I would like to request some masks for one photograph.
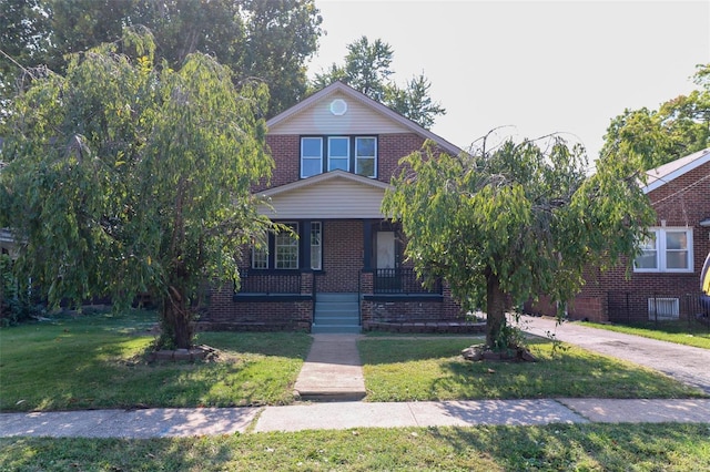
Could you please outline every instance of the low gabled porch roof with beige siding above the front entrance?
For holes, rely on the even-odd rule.
[[[385,218],[381,206],[389,187],[373,178],[333,171],[260,192],[268,205],[261,204],[258,211],[282,220]]]

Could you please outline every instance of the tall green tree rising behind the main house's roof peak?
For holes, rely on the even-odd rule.
[[[404,88],[398,86],[392,80],[393,58],[392,47],[383,40],[371,42],[367,37],[361,37],[347,45],[343,65],[333,63],[315,74],[312,89],[342,81],[420,126],[430,127],[446,110],[429,96],[432,83],[424,74],[413,76]]]

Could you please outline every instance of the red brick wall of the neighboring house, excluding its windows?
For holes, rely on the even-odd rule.
[[[589,298],[599,298],[601,308],[610,321],[641,321],[648,319],[648,299],[655,296],[682,298],[700,290],[700,270],[710,253],[710,228],[698,223],[710,216],[710,163],[667,183],[649,193],[658,214],[656,226],[690,227],[693,230],[693,271],[688,274],[631,273],[626,277],[626,267],[607,273],[588,274],[587,285],[577,297],[580,304],[571,304],[575,317],[584,317]],[[628,294],[628,295],[627,295]],[[605,297],[606,307],[604,307]],[[587,301],[585,301],[587,300]],[[681,317],[683,312],[681,300]]]

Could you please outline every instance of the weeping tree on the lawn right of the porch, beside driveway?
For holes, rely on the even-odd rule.
[[[425,284],[444,277],[464,309],[485,309],[486,345],[503,350],[516,347],[513,304],[568,300],[587,265],[636,254],[653,212],[638,163],[604,157],[587,176],[584,148],[559,136],[493,148],[488,136],[458,156],[426,143],[403,158],[383,209],[402,223]]]

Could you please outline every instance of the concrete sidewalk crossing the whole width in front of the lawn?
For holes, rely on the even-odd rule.
[[[710,399],[328,402],[264,408],[1,413],[0,437],[148,439],[314,429],[589,422],[710,423]]]

